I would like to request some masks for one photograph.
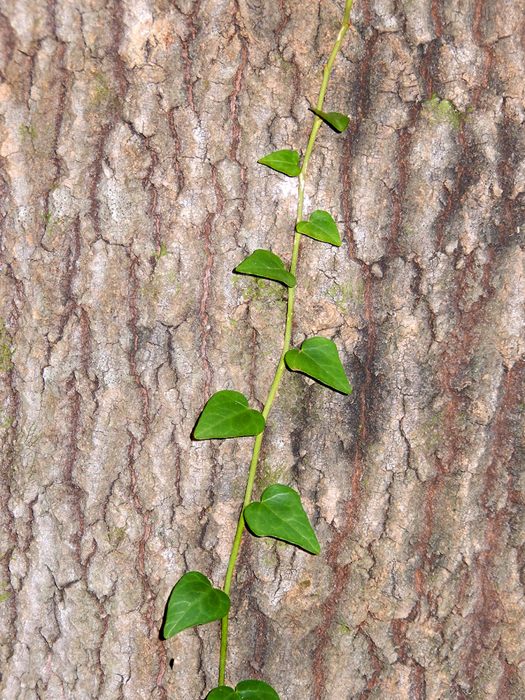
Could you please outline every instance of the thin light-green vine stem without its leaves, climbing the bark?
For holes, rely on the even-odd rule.
[[[323,69],[323,82],[321,83],[321,90],[319,92],[319,99],[317,101],[317,109],[323,109],[323,102],[325,99],[326,87],[328,86],[328,78],[330,78],[330,71],[332,70],[332,65],[335,61],[337,52],[341,45],[342,39],[349,28],[349,15],[352,6],[352,0],[347,0],[346,8],[344,10],[344,17],[341,28],[339,29],[339,34],[337,34],[337,39],[330,53],[330,58],[328,63]],[[298,197],[297,197],[297,223],[302,221],[302,204],[304,201],[304,181],[306,179],[306,172],[308,167],[308,162],[310,160],[311,151],[314,148],[314,142],[316,140],[317,132],[323,120],[316,116],[314,119],[314,125],[311,127],[310,137],[308,139],[308,145],[306,153],[304,153],[304,159],[302,161],[301,172],[299,174],[299,185],[298,185]],[[301,235],[297,230],[295,231],[295,237],[293,240],[293,251],[292,251],[292,262],[290,265],[290,272],[295,275],[295,270],[297,269],[297,258],[299,256],[299,244]],[[290,349],[290,339],[292,337],[292,323],[293,323],[293,302],[295,300],[295,288],[288,288],[288,304],[286,307],[286,326],[284,329],[284,343],[283,351],[281,352],[281,358],[279,359],[279,364],[275,371],[274,381],[272,381],[272,386],[269,389],[268,398],[265,403],[265,407],[262,409],[262,415],[265,420],[268,417],[269,409],[272,407],[272,403],[277,394],[279,384],[281,382],[281,377],[285,369],[284,356]],[[228,569],[226,570],[226,578],[224,583],[224,592],[230,595],[230,587],[232,585],[233,570],[235,568],[235,561],[237,561],[237,554],[239,553],[239,547],[241,546],[242,533],[244,531],[244,509],[251,501],[251,492],[253,491],[253,483],[255,482],[255,472],[257,471],[257,465],[259,461],[260,446],[262,444],[262,436],[264,435],[264,430],[260,435],[255,437],[255,444],[253,445],[253,454],[251,457],[250,471],[248,472],[248,481],[246,482],[246,491],[244,492],[244,501],[242,503],[241,514],[239,515],[239,522],[237,523],[237,531],[235,532],[235,539],[233,540],[232,553],[230,554],[230,561],[228,562]],[[219,661],[219,685],[224,685],[224,676],[226,668],[226,650],[228,647],[228,615],[225,615],[222,620],[221,626],[221,659]]]

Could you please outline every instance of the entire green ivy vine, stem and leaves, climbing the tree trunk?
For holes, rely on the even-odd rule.
[[[167,603],[165,621],[161,635],[168,639],[174,634],[197,624],[206,624],[221,619],[221,654],[218,672],[218,687],[212,689],[207,700],[279,700],[279,695],[261,680],[242,680],[235,689],[225,685],[226,650],[228,646],[228,619],[230,615],[230,587],[235,562],[244,531],[255,537],[271,537],[301,547],[310,554],[318,554],[321,547],[314,529],[302,507],[300,494],[284,484],[272,484],[262,492],[260,501],[252,502],[251,495],[266,419],[276,397],[277,389],[285,369],[301,372],[315,381],[339,391],[351,393],[351,387],[337,346],[324,337],[306,339],[299,348],[290,348],[295,299],[295,269],[302,236],[323,241],[332,246],[340,246],[341,238],[337,225],[328,213],[318,209],[311,212],[309,219],[303,218],[304,183],[308,162],[318,130],[323,124],[336,132],[342,132],[349,124],[349,118],[339,112],[323,111],[323,103],[332,65],[339,51],[342,39],[349,28],[349,15],[352,0],[346,2],[342,25],[323,69],[323,80],[315,108],[314,123],[302,163],[297,151],[283,149],[274,151],[258,160],[260,165],[297,178],[298,202],[297,221],[293,241],[292,262],[288,270],[284,262],[271,251],[255,250],[246,260],[237,265],[235,272],[264,279],[278,281],[288,289],[286,325],[284,328],[283,349],[276,367],[272,386],[262,412],[251,409],[248,400],[238,391],[218,391],[211,396],[195,425],[195,440],[223,440],[226,438],[253,436],[255,442],[250,470],[246,482],[244,501],[240,510],[237,531],[233,540],[230,561],[226,572],[223,590],[214,588],[211,582],[198,571],[189,571],[176,583]]]

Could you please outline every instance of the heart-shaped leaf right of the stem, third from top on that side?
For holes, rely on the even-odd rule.
[[[342,393],[351,393],[335,342],[328,338],[309,338],[301,349],[288,350],[284,360],[290,370],[303,372]]]

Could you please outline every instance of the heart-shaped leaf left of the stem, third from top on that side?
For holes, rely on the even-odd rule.
[[[248,408],[248,400],[239,391],[217,391],[204,406],[193,437],[244,437],[265,429],[262,413]]]

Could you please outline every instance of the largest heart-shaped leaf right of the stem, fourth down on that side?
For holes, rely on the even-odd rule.
[[[283,484],[273,484],[262,491],[260,503],[249,503],[244,521],[254,535],[275,537],[306,549],[321,552],[316,535],[301,504],[301,497]]]

